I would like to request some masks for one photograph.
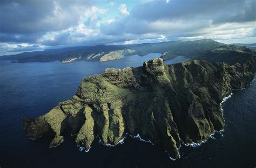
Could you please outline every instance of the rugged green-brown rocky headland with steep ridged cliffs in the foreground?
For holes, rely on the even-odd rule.
[[[138,68],[106,69],[84,78],[71,100],[43,116],[25,118],[24,130],[28,138],[54,134],[50,146],[56,146],[71,129],[86,150],[97,135],[104,144],[116,145],[126,133],[139,134],[178,158],[181,139],[198,143],[224,128],[220,102],[253,76],[253,60],[163,65],[163,59],[153,59]]]

